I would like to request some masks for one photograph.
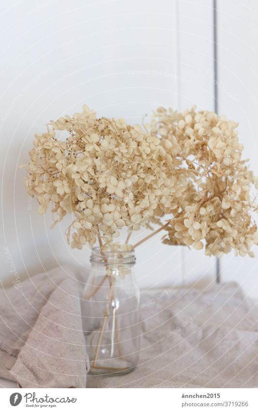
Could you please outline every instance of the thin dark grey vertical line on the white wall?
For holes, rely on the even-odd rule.
[[[214,112],[218,113],[218,48],[217,48],[217,0],[213,0],[213,82]],[[220,260],[216,258],[216,282],[220,282]]]

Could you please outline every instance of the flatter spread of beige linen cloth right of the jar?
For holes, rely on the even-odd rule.
[[[88,388],[258,388],[257,305],[239,285],[153,293],[142,295],[136,372],[87,376]],[[0,388],[17,386],[0,379]]]

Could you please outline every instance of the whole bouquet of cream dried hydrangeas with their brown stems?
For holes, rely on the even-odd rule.
[[[205,244],[207,255],[220,257],[234,249],[236,255],[253,257],[258,231],[251,191],[258,188],[258,178],[242,158],[237,126],[209,111],[159,108],[143,129],[122,119],[97,118],[84,105],[83,113],[51,121],[35,136],[28,192],[37,197],[40,214],[52,205],[52,227],[72,215],[66,234],[73,248],[92,247],[98,239],[103,256],[107,250],[123,254],[164,231],[165,244],[197,250]],[[122,243],[123,228],[128,235]],[[140,228],[152,232],[131,244],[132,231]],[[109,275],[107,267],[88,299],[106,277],[113,298]]]

